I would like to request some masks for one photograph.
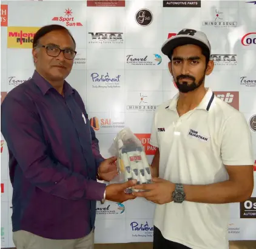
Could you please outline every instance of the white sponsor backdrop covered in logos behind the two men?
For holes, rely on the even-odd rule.
[[[32,76],[33,36],[48,24],[64,25],[75,37],[78,54],[67,81],[81,94],[90,118],[98,120],[94,129],[104,157],[110,157],[113,138],[127,126],[152,160],[153,112],[177,93],[161,45],[182,28],[192,28],[204,31],[212,44],[215,68],[206,86],[243,112],[256,160],[256,1],[2,2],[1,102]],[[256,239],[256,188],[248,201],[230,207],[229,238]],[[141,198],[99,204],[95,241],[152,241],[153,211],[154,205]],[[1,135],[2,247],[13,246],[11,216],[8,150]]]

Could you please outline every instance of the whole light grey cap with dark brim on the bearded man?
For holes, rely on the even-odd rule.
[[[186,44],[198,45],[209,51],[211,54],[211,44],[207,39],[206,34],[202,31],[192,30],[189,28],[183,28],[176,36],[172,36],[167,39],[162,45],[161,51],[163,54],[170,58],[174,48]]]

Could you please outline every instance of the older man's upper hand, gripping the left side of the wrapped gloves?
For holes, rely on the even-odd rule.
[[[99,164],[99,177],[104,181],[111,181],[116,175],[116,157],[107,158]]]

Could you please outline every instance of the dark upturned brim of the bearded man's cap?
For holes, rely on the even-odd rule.
[[[161,51],[163,54],[169,57],[169,55],[172,54],[172,51],[174,50],[174,48],[187,45],[187,44],[198,45],[201,48],[205,48],[210,53],[210,49],[209,47],[207,47],[206,44],[192,37],[172,37],[169,40],[166,40],[166,43],[163,44]]]

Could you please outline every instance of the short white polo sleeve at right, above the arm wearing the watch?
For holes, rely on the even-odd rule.
[[[221,158],[225,165],[254,164],[251,131],[241,112],[235,112],[224,123],[221,135]]]

